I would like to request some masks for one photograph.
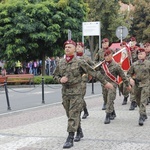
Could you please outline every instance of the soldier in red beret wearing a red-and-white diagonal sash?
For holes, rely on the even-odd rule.
[[[103,93],[107,98],[106,103],[106,118],[104,123],[109,124],[110,120],[113,120],[116,117],[114,109],[114,100],[116,98],[116,89],[117,89],[117,76],[120,76],[123,82],[126,84],[128,90],[131,89],[129,81],[126,78],[122,68],[118,63],[113,60],[112,51],[106,50],[104,53],[105,62],[99,68],[101,73],[105,75],[105,79],[113,84],[114,89],[106,89]]]

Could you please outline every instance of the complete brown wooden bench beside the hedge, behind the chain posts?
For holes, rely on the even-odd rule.
[[[6,75],[7,83],[31,83],[34,84],[33,74],[10,74]]]

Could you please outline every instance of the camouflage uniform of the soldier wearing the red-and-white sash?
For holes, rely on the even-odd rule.
[[[107,62],[105,62],[105,63],[107,64]],[[109,72],[114,77],[117,78],[117,76],[119,75],[122,78],[125,85],[129,86],[129,81],[126,78],[124,71],[121,69],[121,67],[118,63],[116,63],[115,61],[112,60],[112,62],[107,64],[107,67],[109,69]],[[105,71],[102,68],[100,68],[100,71],[102,74],[105,74]],[[103,91],[104,97],[107,99],[106,114],[109,114],[109,117],[112,117],[112,115],[114,115],[114,100],[116,99],[117,84],[114,81],[112,81],[106,74],[105,74],[105,79],[108,82],[112,83],[114,86],[114,89],[105,89],[105,91]]]

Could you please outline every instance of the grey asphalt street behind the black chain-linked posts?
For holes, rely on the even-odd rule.
[[[86,96],[93,96],[101,94],[101,85],[99,82],[94,84],[87,84]],[[54,103],[61,103],[61,85],[45,85],[44,86],[44,102],[42,103],[42,86],[8,86],[8,96],[11,111],[18,111],[22,109],[29,109],[33,107],[43,107],[43,105],[50,105]],[[0,114],[8,113],[7,102],[4,88],[0,87]]]

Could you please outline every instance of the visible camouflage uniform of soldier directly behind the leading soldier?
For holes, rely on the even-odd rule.
[[[83,54],[82,56],[77,56],[77,58],[79,58],[81,60],[85,60],[90,66],[94,66],[94,62],[85,54]],[[84,96],[86,94],[86,83],[87,83],[87,81],[88,81],[88,74],[83,74],[82,75],[82,83],[81,83],[82,84],[82,92],[83,92],[83,94],[82,94],[83,100],[84,100]],[[84,100],[83,110],[84,110],[84,115],[82,118],[85,119],[86,115],[89,115],[89,113],[87,111],[87,104],[86,104],[85,100]]]

